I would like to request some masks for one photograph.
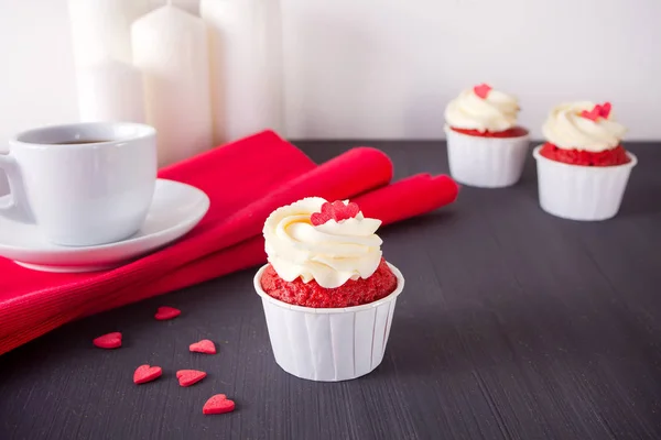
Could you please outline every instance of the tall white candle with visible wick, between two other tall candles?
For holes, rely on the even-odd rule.
[[[213,146],[208,46],[202,19],[164,6],[131,29],[133,64],[144,77],[147,122],[158,131],[159,164]]]

